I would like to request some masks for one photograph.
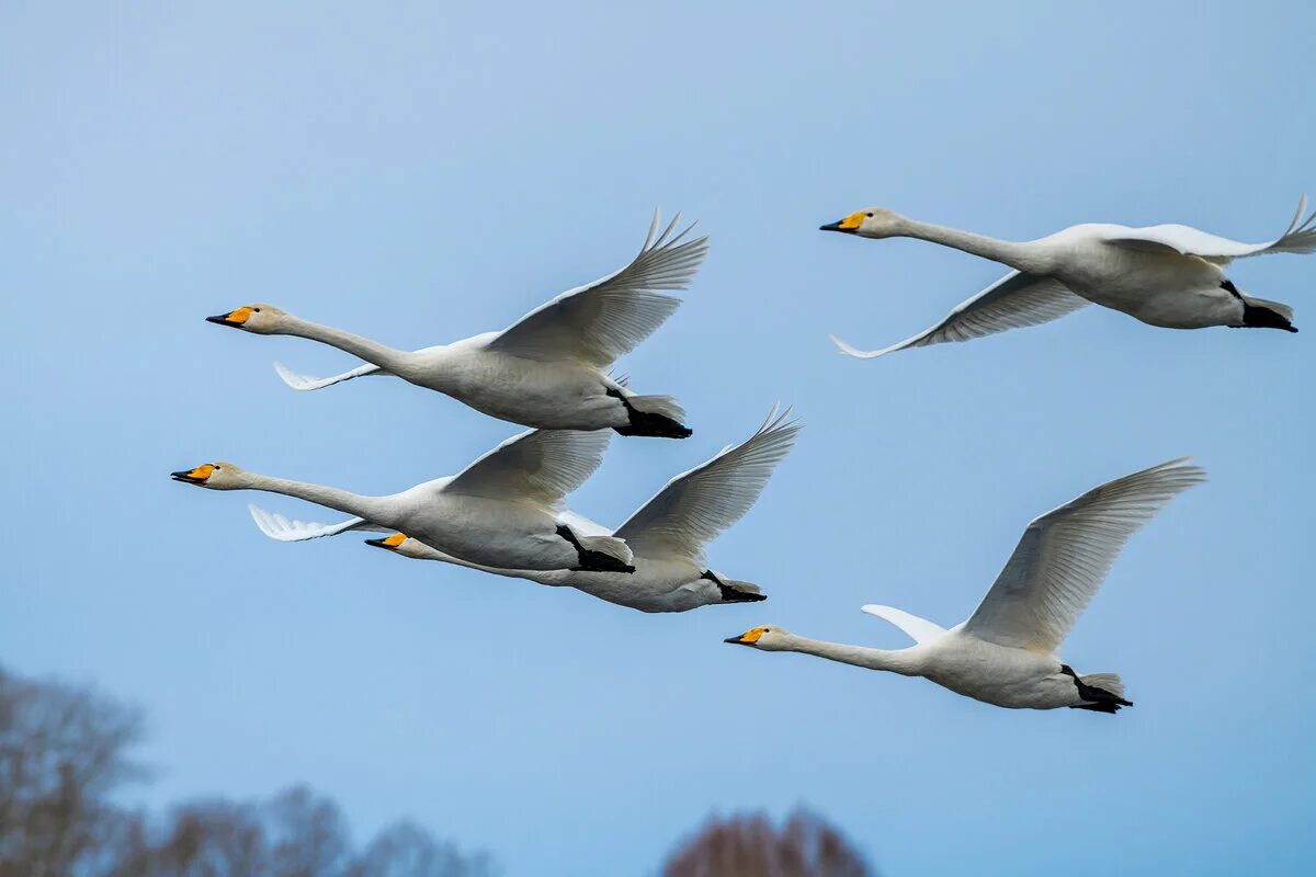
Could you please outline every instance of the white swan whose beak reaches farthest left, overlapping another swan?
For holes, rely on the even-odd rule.
[[[470,563],[524,569],[630,573],[622,536],[579,533],[562,518],[562,497],[599,468],[608,433],[529,430],[458,475],[393,493],[361,496],[338,488],[207,463],[172,472],[175,481],[212,490],[267,490],[415,533]]]

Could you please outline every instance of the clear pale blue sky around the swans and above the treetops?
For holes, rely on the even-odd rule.
[[[309,781],[511,874],[647,873],[708,813],[807,802],[890,874],[1299,873],[1316,855],[1316,259],[1237,264],[1304,331],[1088,309],[873,363],[1003,273],[816,231],[870,204],[1008,238],[1084,221],[1257,241],[1316,192],[1302,4],[0,8],[0,660],[142,703],[145,803]],[[644,615],[355,538],[284,546],[212,459],[390,492],[516,427],[203,322],[251,301],[399,347],[620,267],[654,205],[712,235],[622,366],[695,435],[617,439],[620,522],[745,437],[807,427],[715,567],[766,604]],[[1013,713],[733,650],[757,623],[895,647],[965,618],[1037,513],[1195,454],[1065,647],[1137,707]],[[268,505],[303,517],[293,501]]]

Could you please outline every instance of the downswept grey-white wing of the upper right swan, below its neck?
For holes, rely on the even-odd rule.
[[[841,352],[857,359],[874,359],[907,347],[928,347],[954,341],[995,335],[1007,329],[1037,326],[1059,320],[1088,304],[1054,277],[1013,271],[976,296],[959,304],[940,323],[882,350],[858,350],[832,335]]]

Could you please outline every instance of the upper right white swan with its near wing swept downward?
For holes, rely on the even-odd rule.
[[[1001,262],[1013,271],[957,305],[936,326],[900,343],[862,351],[836,335],[832,341],[849,356],[873,359],[907,347],[1036,326],[1088,302],[1167,329],[1232,326],[1295,333],[1288,305],[1241,292],[1225,277],[1224,267],[1265,252],[1316,250],[1316,213],[1303,220],[1305,210],[1303,196],[1288,229],[1267,243],[1238,243],[1186,225],[1130,229],[1098,224],[1013,242],[917,222],[882,208],[858,210],[821,230],[861,238],[920,238]]]

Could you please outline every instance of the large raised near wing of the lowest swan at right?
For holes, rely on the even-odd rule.
[[[965,632],[1054,652],[1137,530],[1207,473],[1171,460],[1088,490],[1028,525]]]

